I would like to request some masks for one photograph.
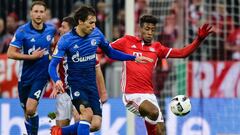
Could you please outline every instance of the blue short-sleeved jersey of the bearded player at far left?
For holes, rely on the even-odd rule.
[[[49,52],[55,32],[56,30],[53,26],[46,24],[44,24],[43,30],[36,30],[31,22],[17,29],[10,43],[11,46],[17,47],[21,50],[21,53],[29,55],[38,48],[45,48],[46,50],[44,56],[40,59],[21,60],[19,81],[29,84],[34,79],[49,79]]]

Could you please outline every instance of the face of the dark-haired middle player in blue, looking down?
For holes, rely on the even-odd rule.
[[[90,34],[96,27],[96,16],[89,15],[86,21],[79,21],[79,27],[85,35]]]

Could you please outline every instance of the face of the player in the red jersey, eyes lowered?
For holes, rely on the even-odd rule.
[[[140,27],[141,37],[144,42],[151,43],[154,33],[156,31],[156,25],[152,23],[144,23],[142,27]]]

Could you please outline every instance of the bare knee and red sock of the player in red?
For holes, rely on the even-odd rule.
[[[156,121],[159,116],[158,108],[148,100],[145,100],[141,103],[139,106],[139,112],[141,116],[148,117],[152,121]],[[145,122],[145,124],[148,130],[148,134],[165,135],[165,125],[163,122],[158,122],[156,125],[153,125],[149,122]],[[153,132],[155,133],[153,134]]]

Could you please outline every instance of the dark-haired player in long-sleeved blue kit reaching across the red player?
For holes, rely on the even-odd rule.
[[[116,60],[132,60],[138,63],[147,63],[151,59],[140,56],[126,55],[116,51],[109,46],[102,32],[96,28],[96,12],[92,7],[82,6],[74,14],[77,22],[76,28],[63,35],[54,51],[49,65],[49,74],[55,82],[55,88],[64,92],[63,83],[57,75],[57,65],[61,59],[67,56],[68,69],[66,71],[66,85],[72,103],[80,114],[80,105],[90,107],[93,111],[91,120],[91,131],[97,131],[101,127],[102,109],[96,86],[96,50],[100,47],[110,58]],[[60,130],[62,134],[76,131],[80,135],[79,123],[69,128],[52,128],[52,131]]]

